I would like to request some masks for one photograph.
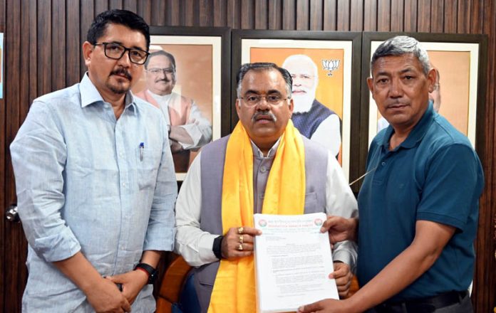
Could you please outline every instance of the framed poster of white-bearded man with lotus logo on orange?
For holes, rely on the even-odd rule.
[[[353,144],[358,147],[358,137],[351,134],[358,134],[359,127],[361,33],[240,30],[232,31],[232,44],[233,85],[243,63],[272,62],[286,68],[293,78],[295,127],[329,149],[346,179],[353,179],[357,166],[351,151]],[[232,124],[236,121],[233,117]]]

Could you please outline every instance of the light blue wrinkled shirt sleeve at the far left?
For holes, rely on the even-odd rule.
[[[10,149],[19,217],[29,245],[47,262],[70,258],[81,245],[61,217],[67,149],[50,105],[33,102]]]

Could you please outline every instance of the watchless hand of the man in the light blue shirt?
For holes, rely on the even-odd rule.
[[[112,280],[101,278],[85,294],[95,312],[131,312],[131,305]]]

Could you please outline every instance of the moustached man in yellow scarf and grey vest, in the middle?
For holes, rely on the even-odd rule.
[[[326,212],[356,216],[356,200],[336,158],[293,126],[291,75],[273,63],[237,75],[239,123],[202,149],[176,205],[176,252],[195,266],[202,312],[255,312],[254,213]],[[334,245],[336,279],[346,296],[356,245]]]

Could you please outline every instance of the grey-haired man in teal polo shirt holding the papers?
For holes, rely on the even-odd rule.
[[[358,195],[358,281],[352,297],[300,312],[472,312],[482,166],[467,137],[429,103],[436,72],[418,41],[397,36],[371,60],[368,87],[390,126],[371,144]],[[331,217],[332,240],[358,219]]]

